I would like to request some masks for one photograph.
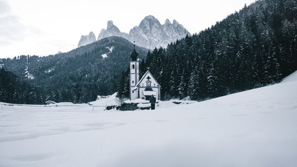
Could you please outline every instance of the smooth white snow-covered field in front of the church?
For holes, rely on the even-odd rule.
[[[0,166],[297,166],[297,77],[155,111],[0,104]]]

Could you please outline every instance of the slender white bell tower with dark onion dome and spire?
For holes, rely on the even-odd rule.
[[[137,61],[138,53],[134,50],[130,54],[132,61],[130,62],[130,100],[136,100],[137,92],[134,90],[139,81],[139,62]]]

